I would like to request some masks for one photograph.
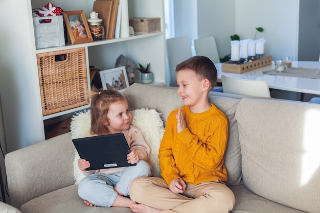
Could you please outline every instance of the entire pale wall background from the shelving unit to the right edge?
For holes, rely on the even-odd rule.
[[[187,7],[188,2],[196,2],[196,6]],[[253,39],[255,28],[262,27],[264,32],[258,32],[257,38],[266,39],[265,55],[273,59],[291,56],[295,60],[318,60],[318,0],[174,0],[174,3],[178,15],[175,25],[179,26],[175,36],[189,35],[192,40],[213,35],[220,58],[230,54],[231,35]],[[190,18],[196,20],[196,25],[189,24]]]

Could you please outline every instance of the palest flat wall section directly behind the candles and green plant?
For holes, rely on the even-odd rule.
[[[298,59],[299,0],[241,0],[236,5],[236,34],[241,39],[254,38],[255,28],[264,32],[265,55],[278,60],[284,56]],[[287,11],[287,12],[286,12]]]

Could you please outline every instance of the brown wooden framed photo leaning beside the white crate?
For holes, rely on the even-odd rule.
[[[83,10],[64,11],[62,15],[72,44],[94,41]]]

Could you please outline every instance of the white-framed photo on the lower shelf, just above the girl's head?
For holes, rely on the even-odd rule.
[[[125,66],[102,70],[99,73],[103,89],[114,89],[124,92],[129,87]]]

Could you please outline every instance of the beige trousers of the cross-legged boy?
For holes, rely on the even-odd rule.
[[[170,213],[230,212],[235,205],[233,192],[220,182],[187,183],[183,194],[174,194],[162,178],[139,177],[131,182],[129,194],[134,202]]]

